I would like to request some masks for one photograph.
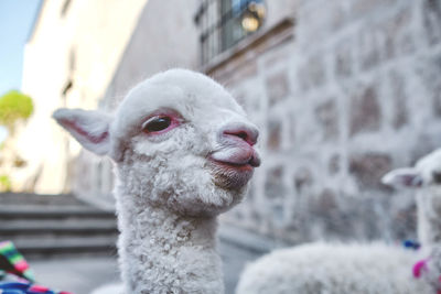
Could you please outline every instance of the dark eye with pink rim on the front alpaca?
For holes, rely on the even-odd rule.
[[[183,119],[173,110],[163,110],[152,113],[141,126],[141,130],[148,135],[158,135],[179,127]]]

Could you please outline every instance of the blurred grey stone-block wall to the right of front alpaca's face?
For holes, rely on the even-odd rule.
[[[301,0],[292,17],[207,69],[261,128],[224,221],[290,243],[413,238],[412,193],[379,179],[441,145],[441,2]]]

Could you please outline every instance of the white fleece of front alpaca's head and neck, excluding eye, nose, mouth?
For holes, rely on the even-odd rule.
[[[158,111],[180,124],[147,135],[142,126]],[[225,128],[257,134],[233,97],[202,74],[171,69],[132,89],[114,116],[64,109],[54,118],[116,163],[125,293],[223,293],[216,217],[243,199],[252,173],[236,175],[207,157],[238,154],[219,140]]]

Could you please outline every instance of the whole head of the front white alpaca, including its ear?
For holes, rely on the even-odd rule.
[[[54,118],[89,151],[110,156],[125,197],[190,216],[237,204],[260,160],[257,128],[211,78],[185,69],[135,87],[115,115],[60,109]]]

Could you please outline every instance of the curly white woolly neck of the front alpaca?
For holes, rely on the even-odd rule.
[[[215,217],[179,216],[132,195],[117,198],[127,293],[224,292]]]

